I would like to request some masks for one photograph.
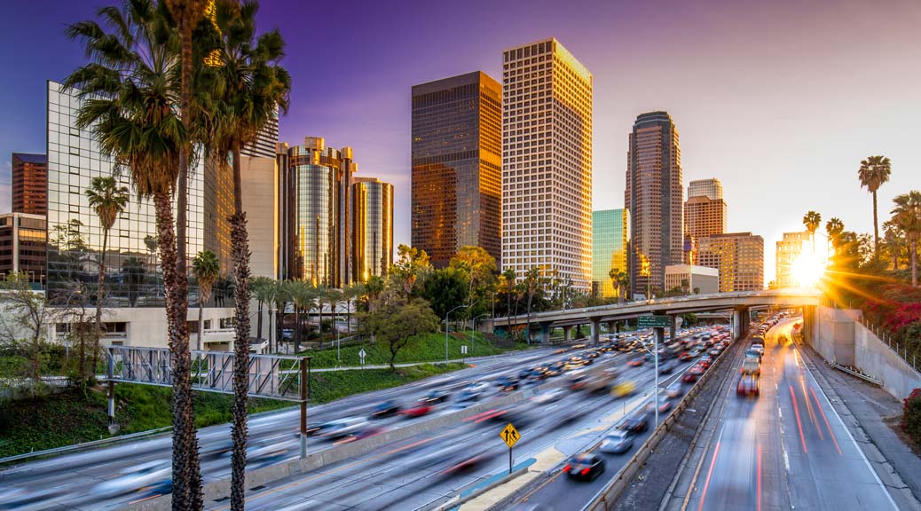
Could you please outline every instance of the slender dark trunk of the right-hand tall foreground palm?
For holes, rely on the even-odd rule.
[[[233,147],[234,214],[230,217],[234,276],[233,452],[230,459],[230,509],[246,507],[246,411],[250,386],[250,241],[243,211],[239,143]]]

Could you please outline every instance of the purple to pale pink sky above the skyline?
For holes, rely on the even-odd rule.
[[[10,153],[44,152],[44,81],[82,62],[67,23],[106,2],[29,0],[0,30],[0,212]],[[627,133],[637,113],[668,110],[687,181],[716,177],[729,229],[775,241],[809,209],[868,232],[863,157],[892,158],[880,216],[921,188],[921,3],[265,1],[294,79],[281,138],[351,145],[359,173],[397,190],[397,243],[410,239],[410,87],[483,70],[501,80],[504,48],[553,36],[595,77],[594,206],[621,207]]]

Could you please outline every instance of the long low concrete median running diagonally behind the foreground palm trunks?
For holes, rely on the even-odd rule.
[[[366,453],[370,449],[385,446],[392,442],[399,442],[407,438],[418,436],[429,431],[442,429],[449,426],[458,425],[463,420],[471,418],[474,415],[487,412],[496,407],[503,407],[524,401],[534,394],[536,390],[560,387],[565,385],[565,378],[558,378],[540,386],[522,389],[511,392],[506,396],[493,399],[480,404],[475,404],[457,412],[445,413],[425,421],[406,424],[402,427],[391,429],[380,433],[379,435],[369,436],[355,442],[336,446],[319,452],[309,454],[306,459],[295,459],[282,463],[276,463],[268,467],[256,470],[247,470],[246,487],[262,486],[271,482],[283,480],[298,474],[309,472],[310,470],[319,470],[326,465],[343,461],[344,459],[354,458]],[[292,436],[294,432],[292,432]],[[212,479],[208,481],[205,478],[203,485],[204,501],[213,502],[224,499],[230,495],[230,478]],[[145,501],[136,502],[127,505],[126,508],[133,511],[166,511],[171,509],[171,495],[159,495]]]

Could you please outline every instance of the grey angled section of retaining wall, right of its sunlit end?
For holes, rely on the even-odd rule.
[[[860,323],[854,323],[856,366],[882,381],[882,388],[899,400],[921,388],[921,373],[895,354],[886,343]]]

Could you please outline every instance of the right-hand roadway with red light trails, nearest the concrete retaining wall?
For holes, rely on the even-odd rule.
[[[797,348],[786,341],[794,322],[782,321],[765,336],[760,396],[736,397],[733,382],[722,397],[722,412],[711,417],[721,426],[690,508],[896,508]]]

